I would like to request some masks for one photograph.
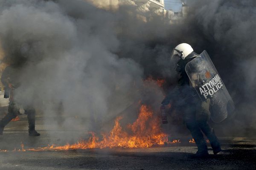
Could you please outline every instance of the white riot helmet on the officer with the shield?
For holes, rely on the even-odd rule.
[[[189,44],[179,44],[175,48],[173,48],[171,59],[173,59],[175,56],[178,56],[181,59],[185,59],[193,51],[193,48]]]

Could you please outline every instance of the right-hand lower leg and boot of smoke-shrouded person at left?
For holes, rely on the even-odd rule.
[[[25,112],[29,120],[29,136],[40,136],[40,133],[35,130],[35,109],[29,108]]]

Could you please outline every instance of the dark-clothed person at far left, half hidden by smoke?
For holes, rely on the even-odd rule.
[[[4,127],[11,122],[16,116],[20,114],[20,108],[17,102],[15,102],[15,88],[20,84],[18,79],[19,66],[11,65],[6,67],[3,71],[1,81],[5,86],[5,95],[4,98],[9,98],[9,108],[7,115],[0,121],[0,135],[3,135]],[[30,105],[23,105],[25,114],[28,117],[29,121],[29,136],[40,136],[35,130],[35,108]]]

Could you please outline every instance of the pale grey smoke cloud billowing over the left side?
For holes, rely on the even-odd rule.
[[[64,117],[76,116],[90,129],[143,100],[143,68],[115,54],[120,42],[113,14],[79,0],[0,4],[5,60],[20,65],[17,102],[41,109],[45,119],[58,116],[62,108]],[[163,98],[159,92],[158,100]],[[78,126],[58,119],[68,129]]]

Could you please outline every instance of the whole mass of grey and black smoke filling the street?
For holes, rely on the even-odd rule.
[[[17,100],[44,110],[45,117],[56,115],[62,103],[64,114],[79,116],[81,125],[92,119],[99,121],[96,125],[108,122],[139,100],[157,109],[162,91],[154,84],[145,90],[143,79],[163,78],[164,90],[172,88],[176,75],[169,55],[186,42],[197,53],[207,50],[233,97],[236,116],[223,126],[253,127],[256,2],[187,3],[188,17],[169,25],[148,11],[148,22],[137,19],[134,5],[112,13],[80,0],[1,0],[6,60],[25,60]]]

